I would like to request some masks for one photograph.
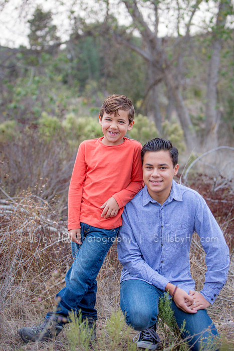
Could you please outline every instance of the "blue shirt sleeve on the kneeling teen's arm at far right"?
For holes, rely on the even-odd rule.
[[[229,249],[221,229],[203,198],[200,198],[197,204],[194,230],[199,235],[206,253],[207,271],[200,293],[206,301],[212,304],[227,279]]]

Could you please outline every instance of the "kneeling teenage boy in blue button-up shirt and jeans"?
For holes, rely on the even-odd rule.
[[[178,150],[155,138],[142,148],[142,189],[125,207],[118,236],[121,274],[120,306],[127,324],[139,330],[138,347],[157,348],[158,301],[172,298],[176,323],[192,351],[218,333],[206,308],[227,278],[229,250],[204,199],[177,184]],[[207,272],[200,292],[190,274],[189,250],[196,232],[206,253]],[[216,348],[212,348],[216,349]]]

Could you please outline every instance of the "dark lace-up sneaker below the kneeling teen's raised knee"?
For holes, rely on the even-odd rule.
[[[138,340],[134,341],[133,339],[134,342],[137,342],[137,347],[148,348],[149,350],[156,350],[156,348],[158,347],[158,342],[160,341],[160,338],[156,333],[156,329],[157,323],[155,323],[150,328],[140,331],[140,333],[137,334],[139,335]]]

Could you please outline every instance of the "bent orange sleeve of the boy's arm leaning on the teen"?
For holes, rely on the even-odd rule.
[[[119,208],[124,207],[144,186],[141,165],[141,149],[142,146],[139,144],[134,152],[130,184],[125,189],[112,195],[112,198],[116,200]]]

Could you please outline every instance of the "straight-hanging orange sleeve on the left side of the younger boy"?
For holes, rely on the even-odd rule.
[[[81,228],[80,209],[87,168],[84,152],[85,144],[81,143],[77,152],[68,192],[68,230]]]

